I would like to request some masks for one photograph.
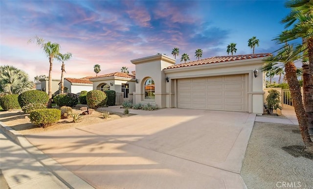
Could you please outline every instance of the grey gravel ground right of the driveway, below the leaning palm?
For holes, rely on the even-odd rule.
[[[241,169],[248,189],[313,189],[313,159],[282,149],[304,145],[295,130],[298,126],[255,122]]]

